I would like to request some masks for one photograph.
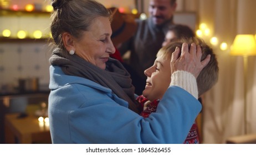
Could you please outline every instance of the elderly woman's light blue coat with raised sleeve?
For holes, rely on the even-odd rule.
[[[143,118],[111,90],[50,66],[49,121],[53,143],[183,143],[201,104],[177,86]]]

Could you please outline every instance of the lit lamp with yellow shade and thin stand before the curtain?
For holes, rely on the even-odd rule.
[[[244,133],[247,134],[247,68],[248,56],[256,55],[256,42],[253,34],[238,34],[231,46],[231,55],[243,56],[244,60]]]

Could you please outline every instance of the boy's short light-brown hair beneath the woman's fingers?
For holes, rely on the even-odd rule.
[[[211,89],[212,86],[218,81],[218,61],[212,48],[210,48],[203,40],[199,38],[181,39],[177,42],[169,43],[161,48],[158,51],[157,56],[171,60],[172,53],[175,51],[176,46],[181,49],[183,43],[187,43],[189,49],[192,43],[200,45],[202,48],[201,60],[205,59],[208,54],[211,55],[211,60],[197,77],[198,96],[201,96],[204,92]]]

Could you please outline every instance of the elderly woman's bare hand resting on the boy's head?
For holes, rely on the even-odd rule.
[[[199,45],[192,43],[190,50],[188,50],[188,44],[183,43],[181,51],[180,48],[176,47],[175,51],[172,53],[171,73],[174,73],[177,70],[183,70],[188,71],[197,78],[199,73],[211,59],[211,55],[207,55],[206,59],[201,61],[201,56],[202,49]]]

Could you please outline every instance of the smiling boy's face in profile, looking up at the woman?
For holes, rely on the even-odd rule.
[[[142,92],[150,101],[161,99],[171,82],[170,59],[157,57],[155,63],[144,71],[147,76],[146,87]]]

